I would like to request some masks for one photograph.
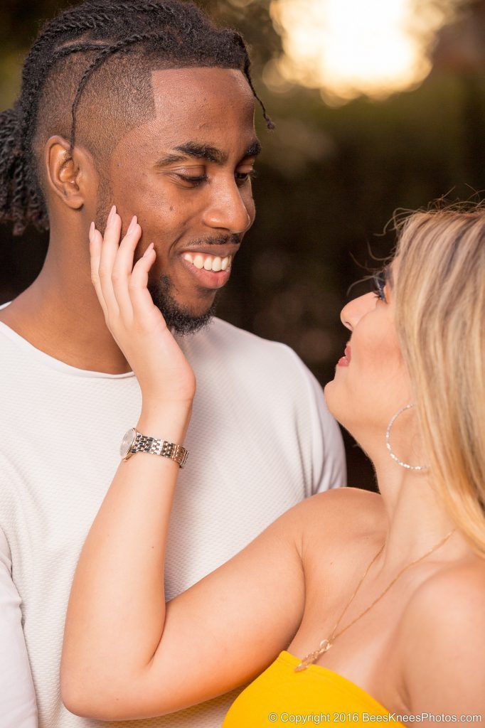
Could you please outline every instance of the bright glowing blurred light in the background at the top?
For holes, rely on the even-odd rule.
[[[275,91],[298,83],[328,103],[382,98],[429,74],[436,33],[460,0],[272,0],[284,54],[267,65]]]

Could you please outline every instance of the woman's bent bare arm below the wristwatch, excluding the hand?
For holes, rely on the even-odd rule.
[[[298,506],[165,605],[175,466],[149,461],[137,454],[115,475],[71,592],[63,701],[100,720],[171,713],[244,684],[288,646],[304,609]]]

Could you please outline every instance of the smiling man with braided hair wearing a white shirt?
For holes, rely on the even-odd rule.
[[[255,215],[248,68],[240,36],[191,4],[90,0],[44,26],[2,114],[1,218],[49,226],[50,245],[0,311],[1,728],[33,726],[33,689],[41,728],[95,725],[60,703],[58,668],[76,559],[141,406],[88,272],[90,222],[103,229],[113,203],[123,232],[138,215],[137,256],[154,242],[149,288],[197,375],[169,598],[344,484],[339,431],[298,357],[211,320]],[[233,699],[137,725],[216,728]]]

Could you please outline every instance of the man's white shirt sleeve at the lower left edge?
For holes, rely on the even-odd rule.
[[[0,728],[36,726],[36,697],[23,636],[20,596],[12,581],[7,539],[0,529]]]

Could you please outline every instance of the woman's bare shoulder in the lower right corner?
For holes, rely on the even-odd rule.
[[[409,601],[401,633],[403,676],[414,712],[423,705],[431,712],[485,710],[483,558],[471,556],[426,579]]]

